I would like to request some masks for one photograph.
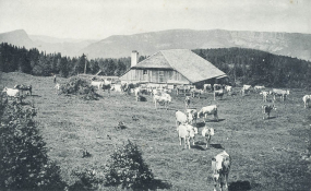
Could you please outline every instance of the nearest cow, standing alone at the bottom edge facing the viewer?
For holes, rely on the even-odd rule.
[[[231,167],[231,157],[224,151],[212,158],[212,171],[214,180],[214,191],[216,191],[217,184],[220,191],[223,187],[228,189],[228,176]]]

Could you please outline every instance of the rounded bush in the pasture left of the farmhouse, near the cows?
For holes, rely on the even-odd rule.
[[[89,82],[76,76],[71,77],[67,84],[62,85],[60,92],[65,95],[77,95],[80,98],[86,100],[97,100],[99,97],[95,93],[94,87],[89,85]]]

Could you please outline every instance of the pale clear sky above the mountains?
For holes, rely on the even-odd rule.
[[[179,28],[311,34],[311,0],[0,0],[0,33],[104,39]]]

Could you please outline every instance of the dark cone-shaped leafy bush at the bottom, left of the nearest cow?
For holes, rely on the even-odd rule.
[[[111,154],[109,163],[105,169],[105,186],[143,190],[154,180],[152,170],[142,158],[142,153],[130,141]]]

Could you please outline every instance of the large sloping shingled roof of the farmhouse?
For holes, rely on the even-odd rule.
[[[207,60],[188,49],[160,50],[148,57],[135,68],[172,69],[195,83],[226,74]]]

